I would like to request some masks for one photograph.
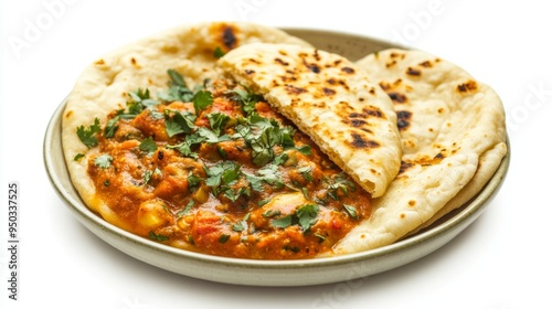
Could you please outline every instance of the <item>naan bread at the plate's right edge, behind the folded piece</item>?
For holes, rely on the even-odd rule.
[[[371,249],[428,226],[469,201],[507,152],[502,103],[457,65],[421,51],[386,50],[357,62],[393,99],[402,169],[372,216],[333,254]]]

